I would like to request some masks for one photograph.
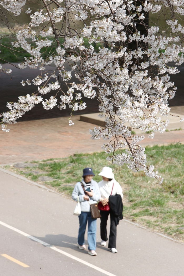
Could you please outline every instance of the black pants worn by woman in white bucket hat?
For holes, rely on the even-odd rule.
[[[107,220],[108,216],[110,214],[110,219],[111,219],[111,226],[110,226],[110,235],[109,235],[109,245],[108,248],[116,248],[116,222],[115,222],[115,217],[113,214],[110,213],[110,211],[100,211],[100,235],[101,239],[103,241],[107,241]]]

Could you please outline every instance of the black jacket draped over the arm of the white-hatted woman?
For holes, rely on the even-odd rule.
[[[116,225],[123,219],[123,203],[121,195],[110,195],[109,197],[110,211],[116,218]]]

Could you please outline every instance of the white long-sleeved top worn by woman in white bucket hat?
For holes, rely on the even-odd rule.
[[[113,186],[113,183],[114,183],[114,186]],[[111,195],[112,188],[113,188],[112,195],[121,195],[121,198],[123,198],[122,188],[115,179],[111,181],[102,180],[98,183],[98,185],[101,193],[101,198],[100,198],[101,201],[104,198],[108,198]]]

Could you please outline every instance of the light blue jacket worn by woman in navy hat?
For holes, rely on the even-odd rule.
[[[84,189],[87,189],[86,183],[84,182],[84,179],[82,179],[82,183],[84,184]],[[94,181],[93,179],[91,180],[91,185],[90,185],[90,190],[93,192],[93,196],[89,197],[89,201],[84,200],[84,190],[82,189],[81,182],[77,182],[75,185],[73,192],[72,192],[72,199],[77,201],[77,197],[79,197],[79,202],[81,205],[81,211],[82,212],[89,212],[90,211],[90,204],[97,203],[97,201],[100,200],[100,189],[98,186],[98,183]]]

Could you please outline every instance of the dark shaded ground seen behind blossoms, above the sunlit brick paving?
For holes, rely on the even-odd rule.
[[[3,68],[11,68],[12,69],[12,78],[9,75],[1,73],[0,75],[0,113],[6,112],[8,109],[6,107],[7,102],[17,101],[17,97],[20,95],[32,94],[37,90],[37,86],[30,85],[22,86],[21,81],[35,78],[39,73],[38,70],[33,70],[26,68],[24,70],[20,70],[18,68],[13,67],[10,64],[4,64]],[[47,67],[47,70],[53,70],[54,67]],[[169,106],[184,106],[184,65],[180,66],[180,73],[177,75],[172,75],[170,78],[171,81],[175,82],[175,85],[178,87],[175,97],[172,100],[169,100]],[[54,81],[54,79],[53,79]],[[71,82],[74,81],[74,78],[71,79]],[[75,79],[76,81],[76,79]],[[63,89],[66,91],[66,87]],[[44,99],[49,99],[50,96],[54,96],[56,94],[55,90],[52,90],[49,94],[43,95]],[[86,113],[96,113],[98,112],[98,101],[97,99],[88,99],[86,97],[83,98],[83,101],[86,102],[87,108],[82,111],[74,112],[74,115],[86,114]],[[58,104],[60,102],[60,98],[58,97]],[[20,118],[20,121],[26,120],[38,120],[45,118],[56,118],[63,116],[70,116],[71,110],[67,108],[65,110],[59,110],[56,106],[51,110],[45,110],[42,107],[42,103],[35,105],[30,111],[26,112],[25,115]]]

